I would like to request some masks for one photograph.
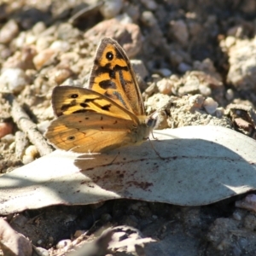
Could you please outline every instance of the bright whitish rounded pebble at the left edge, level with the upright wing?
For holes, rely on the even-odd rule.
[[[5,86],[5,90],[18,93],[24,89],[26,80],[26,73],[22,69],[6,68],[0,76],[0,88],[2,85]]]

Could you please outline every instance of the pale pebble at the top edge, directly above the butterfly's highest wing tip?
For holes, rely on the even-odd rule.
[[[104,1],[100,8],[102,16],[105,19],[111,19],[119,15],[120,10],[123,8],[123,4],[123,0]]]

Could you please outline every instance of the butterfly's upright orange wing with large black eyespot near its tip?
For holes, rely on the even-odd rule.
[[[144,115],[143,99],[131,62],[112,38],[102,38],[90,73],[89,89],[108,96],[135,115]]]

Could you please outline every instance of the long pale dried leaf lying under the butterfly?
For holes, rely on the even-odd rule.
[[[117,198],[207,205],[256,189],[256,143],[220,126],[154,131],[108,154],[55,152],[0,178],[0,214]]]

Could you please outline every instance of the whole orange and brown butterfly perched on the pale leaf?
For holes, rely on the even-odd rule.
[[[57,118],[45,137],[55,148],[78,153],[143,143],[155,124],[145,115],[130,61],[112,38],[102,38],[96,50],[89,89],[57,86],[52,106]]]

